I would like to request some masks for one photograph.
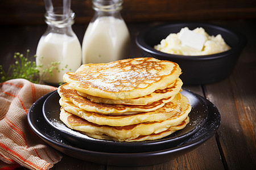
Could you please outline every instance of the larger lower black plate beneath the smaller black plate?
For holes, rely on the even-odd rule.
[[[218,127],[220,126],[220,113],[218,109],[204,99],[208,106],[208,118],[204,126],[193,134],[190,138],[185,139],[183,142],[177,144],[175,147],[170,147],[165,150],[156,150],[151,152],[135,152],[135,153],[109,153],[101,151],[85,150],[69,143],[59,131],[53,129],[48,125],[42,113],[44,101],[51,93],[41,97],[36,101],[30,111],[28,111],[28,124],[32,130],[45,141],[48,145],[56,150],[63,152],[69,156],[77,159],[86,160],[99,164],[108,164],[116,166],[144,166],[159,164],[167,162],[168,160],[175,159],[178,156],[186,154],[194,150],[202,143],[212,137]],[[199,96],[200,97],[200,96]],[[158,146],[156,146],[158,147]],[[156,148],[157,149],[157,148]]]

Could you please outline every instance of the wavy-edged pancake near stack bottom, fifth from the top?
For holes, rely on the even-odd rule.
[[[181,98],[185,99],[187,97],[181,95]],[[170,129],[172,126],[180,125],[188,117],[190,111],[191,106],[189,104],[183,104],[180,105],[179,112],[176,112],[174,116],[164,121],[143,122],[128,126],[108,126],[93,124],[61,108],[60,120],[74,130],[89,134],[108,135],[109,137],[117,138],[118,141],[129,141],[130,139],[136,139],[150,134],[158,134]]]

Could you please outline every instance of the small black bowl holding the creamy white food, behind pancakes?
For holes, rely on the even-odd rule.
[[[170,33],[180,32],[181,28],[195,29],[202,27],[209,35],[220,34],[232,49],[205,56],[182,56],[168,54],[154,49],[162,39]],[[172,23],[156,25],[139,33],[136,43],[142,49],[144,57],[173,61],[179,64],[182,73],[180,78],[184,84],[199,85],[218,82],[232,74],[242,49],[245,47],[246,38],[241,33],[208,23]]]

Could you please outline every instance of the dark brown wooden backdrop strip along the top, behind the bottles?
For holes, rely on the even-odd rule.
[[[62,0],[53,0],[61,5]],[[75,22],[88,23],[93,16],[91,0],[72,0]],[[1,25],[44,24],[43,0],[1,0]],[[177,20],[256,18],[255,0],[123,0],[121,14],[127,23]]]

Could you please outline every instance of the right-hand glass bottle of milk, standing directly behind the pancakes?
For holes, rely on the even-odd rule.
[[[95,14],[82,41],[82,63],[107,63],[128,58],[130,34],[122,19],[121,0],[93,0]]]

